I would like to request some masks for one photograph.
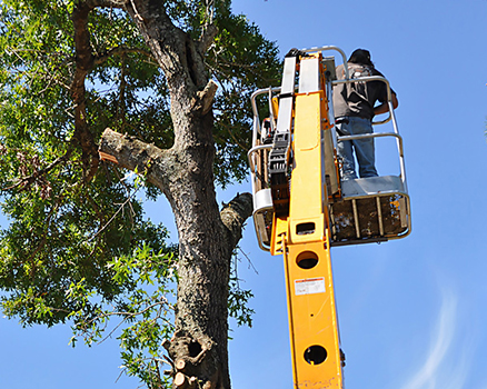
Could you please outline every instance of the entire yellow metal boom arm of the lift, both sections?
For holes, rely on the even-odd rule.
[[[326,164],[334,172],[336,166],[335,153],[326,162],[322,150],[330,130],[328,100],[316,77],[320,82],[306,81],[320,90],[295,98],[289,216],[274,218],[270,251],[285,258],[294,388],[342,389],[325,174]]]

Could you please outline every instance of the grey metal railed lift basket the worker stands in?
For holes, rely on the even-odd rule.
[[[337,47],[328,46],[302,51],[316,52],[325,50],[338,51],[341,54],[344,63],[347,62],[344,51]],[[324,60],[329,61],[330,57],[326,57]],[[331,86],[357,82],[357,79],[349,78],[348,69],[346,69],[345,77],[344,80],[332,80]],[[397,153],[399,156],[400,172],[398,176],[381,176],[340,181],[341,197],[334,197],[327,202],[331,225],[331,246],[381,242],[389,239],[399,239],[408,236],[411,229],[410,199],[406,182],[402,138],[399,134],[394,113],[389,82],[387,79],[376,76],[360,78],[360,82],[370,81],[381,81],[386,83],[389,106],[388,117],[372,124],[378,126],[391,122],[392,131],[336,137],[334,141],[340,142],[364,138],[395,138]],[[329,90],[327,90],[327,96],[332,107],[331,86]],[[277,110],[272,106],[272,100],[276,101],[279,91],[279,87],[266,88],[255,91],[251,96],[254,128],[252,148],[248,152],[248,158],[254,194],[252,217],[259,247],[267,251],[270,250],[275,210],[269,183],[269,153],[272,149],[272,137],[269,136],[269,131],[275,130],[275,116],[277,116]],[[270,113],[269,118],[266,119],[268,121],[267,126],[262,126],[257,98],[266,97],[266,94]],[[332,112],[332,109],[329,111]],[[330,120],[331,123],[335,122],[332,114],[330,118],[327,118],[327,120]],[[326,184],[326,182],[324,182],[324,184]]]

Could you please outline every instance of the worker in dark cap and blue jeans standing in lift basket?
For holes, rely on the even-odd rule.
[[[350,79],[360,77],[384,77],[370,60],[370,52],[364,49],[355,50],[347,62]],[[344,64],[337,67],[337,78],[345,79]],[[391,90],[394,109],[399,104],[396,93]],[[375,106],[379,101],[379,106]],[[386,113],[387,86],[382,81],[340,83],[334,88],[335,129],[337,136],[355,136],[371,133],[372,118]],[[356,179],[354,150],[359,166],[360,178],[377,177],[375,166],[374,138],[339,141],[338,156],[341,158],[341,179]]]

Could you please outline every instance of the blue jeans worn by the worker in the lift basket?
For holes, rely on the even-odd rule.
[[[342,121],[335,127],[338,137],[374,132],[372,123],[368,119],[358,117],[346,117],[340,119]],[[374,138],[366,138],[338,142],[337,152],[338,157],[341,157],[341,179],[350,180],[357,178],[357,173],[355,172],[354,150],[358,161],[358,172],[360,178],[377,177]]]

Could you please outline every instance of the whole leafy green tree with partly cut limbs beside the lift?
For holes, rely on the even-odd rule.
[[[3,311],[72,322],[88,342],[120,317],[125,365],[149,387],[163,386],[162,345],[175,387],[230,388],[229,303],[249,320],[230,262],[251,197],[220,210],[215,186],[246,174],[249,94],[276,82],[275,43],[228,0],[6,0],[0,12]],[[169,201],[177,247],[145,219],[140,181]]]

